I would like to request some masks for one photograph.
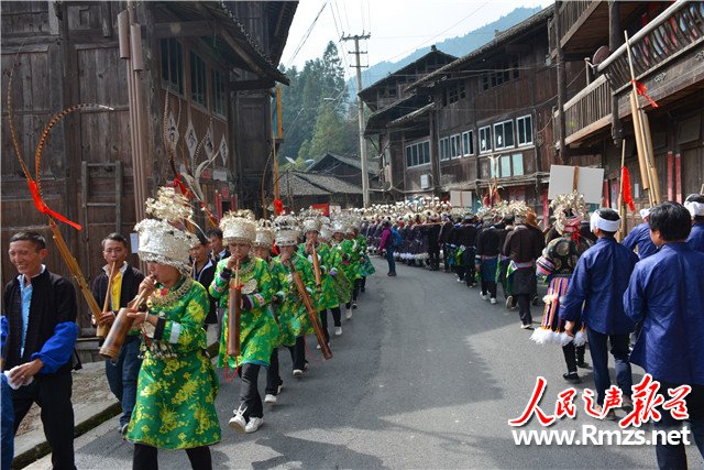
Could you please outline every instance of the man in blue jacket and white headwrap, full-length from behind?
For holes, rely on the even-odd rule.
[[[560,318],[566,321],[568,335],[572,334],[580,317],[586,325],[600,409],[606,390],[610,387],[607,340],[616,363],[616,382],[624,393],[626,406],[630,405],[632,386],[628,340],[636,324],[624,313],[623,297],[638,256],[616,242],[614,234],[619,225],[620,217],[615,210],[602,208],[592,215],[590,228],[597,238],[596,244],[578,261],[560,305]],[[615,418],[613,409],[606,417]]]

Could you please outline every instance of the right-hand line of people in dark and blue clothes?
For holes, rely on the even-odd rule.
[[[453,272],[468,287],[498,304],[518,308],[520,327],[538,345],[562,349],[569,383],[592,369],[596,412],[610,387],[608,352],[614,357],[623,407],[632,409],[631,363],[661,384],[661,393],[686,384],[691,431],[704,457],[704,196],[684,205],[663,203],[640,210],[642,223],[619,243],[617,211],[587,215],[583,197],[562,195],[551,203],[550,227],[541,230],[525,203],[501,203],[476,214],[425,198],[377,206],[362,227],[373,251],[385,256],[388,275],[396,262]],[[636,251],[636,252],[635,252]],[[538,283],[547,295],[538,296]],[[542,307],[534,329],[531,305]],[[588,343],[592,364],[585,360]],[[669,413],[656,427],[673,429]],[[659,441],[660,468],[686,468],[684,445]]]

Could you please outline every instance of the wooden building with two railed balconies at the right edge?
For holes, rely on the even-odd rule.
[[[622,145],[638,207],[648,205],[638,165],[624,31],[636,79],[657,102],[639,97],[650,121],[662,200],[682,203],[704,181],[704,2],[560,2],[551,23],[552,56],[582,64],[588,76],[566,90],[556,146],[568,161],[594,155],[605,170],[603,204],[617,208]],[[556,122],[560,122],[560,109]],[[629,214],[629,226],[640,222]]]

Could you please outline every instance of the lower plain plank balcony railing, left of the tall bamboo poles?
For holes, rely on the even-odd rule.
[[[602,75],[564,103],[564,143],[569,145],[605,128],[610,124],[610,116],[612,89]]]

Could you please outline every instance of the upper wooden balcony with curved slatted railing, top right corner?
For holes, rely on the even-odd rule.
[[[636,79],[644,80],[703,43],[704,2],[675,2],[630,39]],[[608,74],[616,94],[630,85],[626,44],[608,56],[598,72]]]

